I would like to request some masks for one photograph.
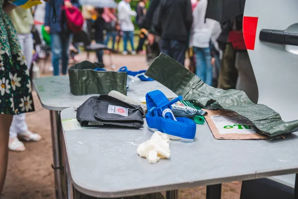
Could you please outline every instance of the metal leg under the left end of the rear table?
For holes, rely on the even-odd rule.
[[[50,110],[51,117],[51,130],[52,130],[52,148],[53,148],[53,169],[54,169],[54,177],[55,177],[55,192],[56,199],[62,199],[62,185],[61,185],[61,176],[60,176],[60,146],[59,146],[59,112]],[[58,125],[57,125],[58,124]]]

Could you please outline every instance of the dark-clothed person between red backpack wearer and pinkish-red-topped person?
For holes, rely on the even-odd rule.
[[[102,15],[104,12],[103,8],[95,8],[96,12],[96,20],[94,22],[94,28],[95,28],[95,40],[96,43],[104,44],[103,42],[103,31],[105,29],[105,20],[103,19]],[[99,63],[103,63],[103,50],[99,50],[96,52],[97,59]]]

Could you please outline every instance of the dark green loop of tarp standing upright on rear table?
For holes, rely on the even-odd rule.
[[[88,94],[109,94],[118,91],[126,95],[126,72],[94,71],[100,64],[88,61],[69,68],[71,93],[75,96]]]

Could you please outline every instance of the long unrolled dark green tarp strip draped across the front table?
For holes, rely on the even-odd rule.
[[[163,53],[152,62],[146,75],[184,100],[196,100],[203,108],[230,110],[246,117],[259,133],[273,137],[298,131],[298,120],[283,121],[279,113],[264,104],[253,103],[243,91],[213,88]]]

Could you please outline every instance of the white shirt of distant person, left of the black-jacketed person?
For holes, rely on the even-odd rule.
[[[130,4],[122,0],[118,4],[118,18],[122,31],[134,31],[135,27],[131,16],[137,16],[137,12],[132,10]]]

